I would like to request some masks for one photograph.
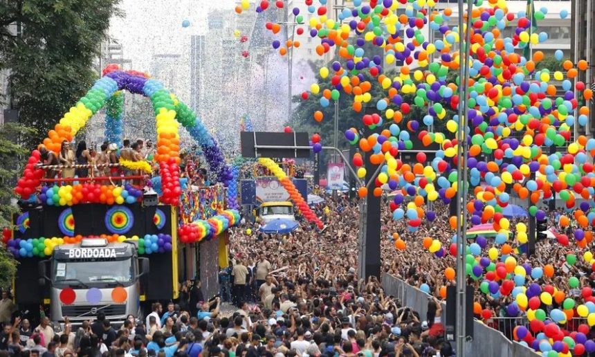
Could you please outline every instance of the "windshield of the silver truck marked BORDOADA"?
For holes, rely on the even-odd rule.
[[[93,262],[55,260],[53,282],[68,286],[127,286],[133,282],[134,266],[131,258]]]

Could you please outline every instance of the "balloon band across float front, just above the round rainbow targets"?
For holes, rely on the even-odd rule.
[[[78,203],[104,203],[108,205],[135,203],[143,199],[143,190],[132,185],[113,186],[99,183],[44,186],[39,201],[45,205],[76,205]]]

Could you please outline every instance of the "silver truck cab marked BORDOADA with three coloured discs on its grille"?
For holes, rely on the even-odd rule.
[[[103,311],[119,324],[129,314],[143,315],[140,278],[148,273],[149,258],[138,257],[134,241],[82,239],[79,244],[57,246],[51,259],[39,262],[39,285],[48,285],[53,321],[68,316],[80,324]]]

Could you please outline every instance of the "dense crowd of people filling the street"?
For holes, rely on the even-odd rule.
[[[193,162],[192,155],[186,156],[183,172],[203,183],[200,168]],[[412,286],[429,287],[428,313],[419,315],[385,292],[376,277],[363,280],[357,276],[357,201],[341,195],[322,196],[324,202],[313,205],[313,211],[324,222],[323,230],[305,222],[288,235],[263,235],[258,223],[249,221],[234,228],[230,266],[219,272],[219,296],[203,297],[196,281],[186,284],[181,299],[168,302],[165,309],[154,304],[146,318],[129,316],[122,326],[113,326],[100,314],[82,327],[66,321],[58,333],[47,318],[33,328],[12,316],[12,320],[5,319],[0,333],[0,357],[7,353],[35,357],[454,355],[444,339],[441,315],[443,288],[454,283],[444,271],[455,266],[455,257],[448,253],[437,257],[423,246],[423,237],[438,239],[443,247],[452,243],[455,232],[447,223],[448,205],[434,204],[434,223],[425,222],[416,232],[408,230],[405,220],[392,219],[388,206],[382,206],[382,271]],[[551,212],[549,223],[555,225],[562,213]],[[511,228],[514,223],[511,220]],[[395,232],[405,241],[404,250],[395,248]],[[514,250],[518,248],[514,239],[508,244],[509,255],[519,265],[556,266],[555,276],[535,280],[542,286],[551,284],[567,291],[579,303],[580,290],[577,293],[569,287],[569,277],[580,277],[583,286],[595,287],[589,262],[567,266],[568,248],[555,240],[538,241],[531,257]],[[576,255],[586,251],[575,246],[571,250]],[[475,318],[503,329],[494,318],[507,316],[506,306],[513,298],[482,293],[481,281],[468,278],[468,284],[475,286],[475,302],[491,311],[491,316],[475,311]],[[554,302],[544,309],[551,311],[560,304]],[[235,306],[232,311],[230,305]],[[0,310],[2,306],[0,302]],[[513,317],[523,323],[524,312]],[[512,335],[510,328],[504,332]]]

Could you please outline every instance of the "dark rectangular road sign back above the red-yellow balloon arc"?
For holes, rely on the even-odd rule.
[[[240,140],[241,156],[245,158],[309,158],[311,155],[308,133],[241,131]]]

